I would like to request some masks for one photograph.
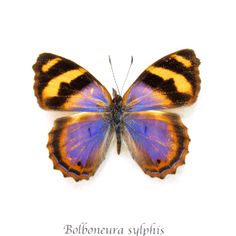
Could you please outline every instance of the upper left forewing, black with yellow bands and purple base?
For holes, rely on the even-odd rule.
[[[33,66],[34,91],[44,109],[104,111],[111,96],[87,70],[63,57],[43,53]]]

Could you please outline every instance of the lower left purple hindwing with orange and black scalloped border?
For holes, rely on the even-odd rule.
[[[76,181],[89,179],[103,161],[113,133],[106,114],[100,112],[57,119],[48,141],[54,168]]]

